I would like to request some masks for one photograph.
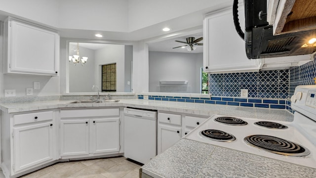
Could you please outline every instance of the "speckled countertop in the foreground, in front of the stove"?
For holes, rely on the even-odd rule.
[[[182,138],[144,165],[153,178],[316,178],[316,169]]]

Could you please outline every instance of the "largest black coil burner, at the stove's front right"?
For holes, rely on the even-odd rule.
[[[254,146],[265,151],[286,156],[306,156],[310,151],[303,146],[269,135],[250,135],[244,138],[250,146]]]

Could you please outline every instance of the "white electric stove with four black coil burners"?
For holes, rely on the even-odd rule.
[[[293,122],[213,115],[185,138],[316,169],[316,86],[298,86]]]

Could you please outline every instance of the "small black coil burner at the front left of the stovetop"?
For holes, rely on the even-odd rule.
[[[211,140],[223,141],[223,142],[231,142],[236,139],[235,136],[232,134],[228,134],[224,131],[213,130],[213,129],[201,131],[200,135],[207,137]]]

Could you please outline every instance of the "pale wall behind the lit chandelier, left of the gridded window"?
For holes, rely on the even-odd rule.
[[[70,49],[77,45],[70,45]],[[69,55],[77,55],[77,51],[70,50]],[[69,92],[91,92],[94,82],[94,50],[79,47],[80,57],[88,57],[84,66],[78,63],[76,66],[69,63]]]

